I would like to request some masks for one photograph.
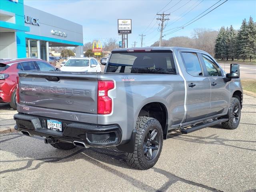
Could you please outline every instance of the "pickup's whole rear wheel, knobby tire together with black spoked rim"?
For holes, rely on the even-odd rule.
[[[152,168],[158,161],[162,145],[163,131],[160,122],[147,116],[138,117],[134,152],[126,152],[126,161],[130,166],[141,170]]]

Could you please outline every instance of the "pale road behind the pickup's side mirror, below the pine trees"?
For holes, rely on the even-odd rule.
[[[236,63],[236,62],[234,62]],[[225,72],[230,72],[230,64],[219,63]],[[256,65],[240,65],[240,78],[241,79],[254,79],[256,80]]]

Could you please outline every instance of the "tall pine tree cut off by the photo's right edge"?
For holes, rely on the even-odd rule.
[[[253,22],[252,17],[250,17],[248,22],[248,41],[248,55],[251,61],[252,58],[256,57],[256,24]]]

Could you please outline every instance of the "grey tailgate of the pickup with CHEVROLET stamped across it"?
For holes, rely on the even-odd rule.
[[[96,73],[30,71],[19,79],[21,105],[97,114]]]

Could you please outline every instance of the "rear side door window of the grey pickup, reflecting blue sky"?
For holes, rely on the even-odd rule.
[[[186,71],[192,76],[202,76],[202,68],[196,53],[182,52]]]

